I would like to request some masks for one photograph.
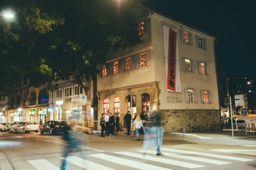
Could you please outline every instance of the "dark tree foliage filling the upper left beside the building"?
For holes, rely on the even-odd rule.
[[[142,43],[132,10],[135,0],[9,0],[13,22],[0,18],[0,91],[28,77],[31,86],[59,79],[74,81],[87,92],[107,55]],[[2,61],[3,60],[3,61]],[[83,85],[86,81],[86,85]]]

